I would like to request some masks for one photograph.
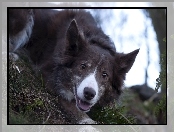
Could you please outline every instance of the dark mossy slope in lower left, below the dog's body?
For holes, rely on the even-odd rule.
[[[26,59],[9,60],[9,123],[69,123],[60,111],[58,97],[47,93],[42,75],[36,76]]]

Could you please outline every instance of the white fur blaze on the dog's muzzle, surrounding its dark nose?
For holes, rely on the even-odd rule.
[[[96,70],[94,71],[94,73],[91,73],[86,78],[84,78],[84,80],[77,87],[77,96],[84,100],[85,98],[83,93],[84,93],[85,87],[90,87],[96,92],[96,95],[90,101],[90,103],[95,103],[98,98],[98,83],[96,81],[95,74],[96,74]]]

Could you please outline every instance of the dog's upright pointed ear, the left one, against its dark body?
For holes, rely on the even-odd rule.
[[[73,19],[66,32],[66,54],[75,56],[81,48],[81,35],[75,19]]]

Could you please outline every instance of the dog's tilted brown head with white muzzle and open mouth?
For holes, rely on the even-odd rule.
[[[91,36],[82,32],[73,20],[66,32],[64,51],[55,57],[59,63],[55,72],[59,74],[55,78],[61,89],[59,94],[68,100],[74,98],[77,108],[85,112],[97,102],[104,105],[118,98],[125,74],[139,52],[116,53],[106,44],[110,42],[106,36]]]

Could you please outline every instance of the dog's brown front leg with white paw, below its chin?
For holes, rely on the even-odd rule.
[[[63,99],[62,97],[59,98],[59,102],[65,112],[70,116],[70,120],[73,124],[96,124],[95,121],[93,121],[85,112],[79,110],[76,107],[75,100],[72,100],[71,102]]]

